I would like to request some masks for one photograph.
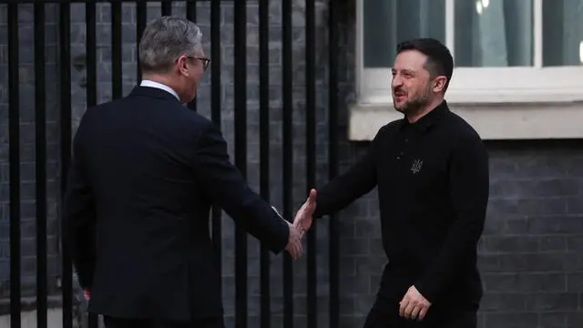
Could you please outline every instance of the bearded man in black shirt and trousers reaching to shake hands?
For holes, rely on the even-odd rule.
[[[404,118],[381,128],[352,169],[317,191],[317,204],[306,201],[295,224],[306,231],[313,206],[313,217],[322,217],[378,187],[389,261],[364,327],[476,327],[486,148],[445,102],[454,67],[447,47],[424,38],[397,52],[392,90]]]

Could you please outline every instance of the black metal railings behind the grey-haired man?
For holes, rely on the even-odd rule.
[[[209,0],[186,0],[186,16],[189,20],[197,20],[197,3],[208,2]],[[315,186],[316,182],[316,11],[315,0],[306,1],[305,12],[305,140],[306,140],[306,185],[308,190]],[[20,0],[17,3],[12,0],[0,0],[0,4],[8,3],[8,96],[9,96],[9,157],[10,157],[10,201],[11,204],[20,203],[20,128],[19,128],[19,49],[18,49],[18,6],[23,3],[31,3],[31,0]],[[172,1],[169,0],[121,0],[121,1],[81,1],[81,0],[44,0],[35,2],[35,113],[36,113],[36,269],[37,269],[37,322],[39,327],[46,327],[47,294],[50,290],[47,286],[47,258],[46,258],[46,216],[47,216],[47,195],[46,195],[46,85],[45,85],[45,59],[43,49],[45,45],[45,5],[48,3],[59,4],[59,97],[60,97],[60,190],[63,194],[66,190],[66,177],[71,155],[71,8],[72,3],[85,3],[86,20],[86,74],[87,74],[87,108],[97,105],[97,3],[107,3],[110,5],[111,13],[111,98],[123,96],[122,79],[122,2],[134,3],[136,5],[136,36],[140,39],[148,19],[148,2],[161,4],[161,14],[171,15]],[[247,175],[247,10],[248,5],[244,0],[221,0],[210,2],[210,118],[218,126],[221,126],[221,110],[223,101],[223,86],[221,80],[221,26],[224,15],[221,13],[221,4],[230,3],[234,7],[234,161],[244,176]],[[270,95],[270,0],[259,0],[259,56],[260,56],[260,193],[261,196],[270,200],[271,177],[270,161],[273,155],[270,151],[271,143],[271,95]],[[329,128],[329,175],[332,179],[338,174],[338,13],[334,9],[332,0],[329,0],[329,89],[328,94],[328,128]],[[297,210],[297,204],[293,203],[293,37],[292,37],[292,0],[281,0],[281,65],[282,79],[282,183],[283,192],[283,213],[286,220],[293,219],[293,212]],[[230,31],[227,31],[230,33]],[[137,81],[141,79],[141,74],[137,74]],[[189,108],[196,111],[195,101],[189,104]],[[254,141],[251,141],[254,142]],[[300,177],[297,177],[300,178]],[[21,298],[20,292],[20,219],[21,212],[19,206],[10,207],[10,256],[11,256],[11,327],[20,328]],[[221,219],[222,211],[218,207],[212,209],[212,239],[217,250],[217,255],[222,252],[221,242]],[[339,231],[336,220],[330,221],[330,326],[339,326]],[[73,270],[69,241],[65,226],[61,227],[61,252],[62,252],[62,293],[63,293],[63,327],[73,326]],[[235,233],[235,322],[236,327],[244,328],[248,326],[248,235],[240,226],[236,227]],[[318,301],[317,301],[317,256],[316,256],[316,226],[307,235],[307,327],[316,328],[318,326]],[[264,245],[261,245],[260,254],[260,288],[261,288],[261,328],[271,327],[271,255]],[[293,286],[293,266],[292,259],[285,253],[283,260],[283,326],[291,328],[294,325],[294,286]],[[89,317],[89,326],[97,327],[97,316]]]

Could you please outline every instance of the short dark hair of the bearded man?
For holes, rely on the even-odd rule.
[[[397,45],[397,55],[407,50],[416,50],[427,56],[424,68],[431,77],[447,77],[444,91],[447,90],[454,73],[454,57],[447,46],[430,37],[407,40]]]

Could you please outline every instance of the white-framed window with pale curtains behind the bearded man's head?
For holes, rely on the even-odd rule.
[[[359,103],[392,102],[395,46],[452,51],[453,103],[583,100],[583,0],[357,0]]]

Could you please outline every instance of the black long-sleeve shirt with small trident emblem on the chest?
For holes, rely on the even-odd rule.
[[[378,186],[384,251],[380,294],[414,285],[434,304],[477,305],[476,246],[488,201],[486,147],[445,101],[414,124],[381,128],[352,169],[318,190],[315,217],[342,210]]]

